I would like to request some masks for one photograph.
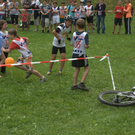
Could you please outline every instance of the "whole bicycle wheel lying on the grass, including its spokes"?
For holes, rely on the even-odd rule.
[[[122,93],[125,92],[115,90],[104,91],[98,95],[98,100],[104,104],[117,107],[135,105],[135,99],[133,99],[132,97],[127,97],[126,95],[119,96],[119,93],[123,95]]]

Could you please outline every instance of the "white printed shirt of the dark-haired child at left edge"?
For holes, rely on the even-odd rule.
[[[8,31],[6,31],[6,34],[0,31],[0,34],[2,35],[2,47],[5,49],[8,48],[9,46],[9,41],[8,41]]]

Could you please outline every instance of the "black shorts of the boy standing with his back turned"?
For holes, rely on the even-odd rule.
[[[79,56],[78,54],[74,54],[72,55],[72,58],[84,58],[84,57],[87,57],[87,55],[81,55]],[[88,67],[88,60],[87,59],[84,59],[84,60],[73,60],[72,61],[72,67],[77,67],[77,68],[80,68],[80,67]]]

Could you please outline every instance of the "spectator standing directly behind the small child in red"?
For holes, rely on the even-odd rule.
[[[31,1],[30,0],[25,0],[22,4],[22,8],[23,9],[27,9],[27,14],[28,14],[28,18],[27,18],[27,30],[29,29],[30,26],[30,18],[31,18],[31,13],[30,13],[30,5],[31,5]]]

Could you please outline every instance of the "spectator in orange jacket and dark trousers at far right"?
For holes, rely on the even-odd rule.
[[[132,4],[129,2],[129,0],[125,1],[125,16],[124,16],[124,22],[125,22],[125,34],[131,34],[131,18],[132,18]]]

